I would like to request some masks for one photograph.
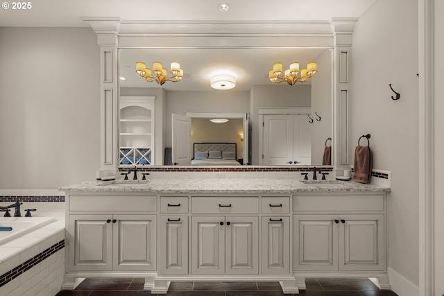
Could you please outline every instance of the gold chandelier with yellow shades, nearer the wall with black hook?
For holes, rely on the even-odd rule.
[[[268,78],[271,82],[280,83],[287,82],[289,85],[294,85],[296,82],[305,82],[308,78],[314,76],[317,72],[316,62],[309,62],[307,68],[300,70],[299,73],[299,63],[293,62],[290,64],[290,69],[284,71],[284,76],[282,77],[282,62],[276,62],[273,64],[273,69],[268,72]]]

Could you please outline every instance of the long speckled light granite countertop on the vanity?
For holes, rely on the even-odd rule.
[[[384,192],[390,188],[352,181],[312,181],[290,178],[162,178],[150,180],[90,181],[59,188],[77,192],[149,193],[298,193],[298,192]]]

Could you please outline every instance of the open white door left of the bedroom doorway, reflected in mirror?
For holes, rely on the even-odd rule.
[[[173,165],[191,165],[191,118],[179,114],[171,114],[173,119],[172,134],[172,159]]]

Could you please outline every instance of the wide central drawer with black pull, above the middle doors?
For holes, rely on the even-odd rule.
[[[194,214],[259,214],[259,198],[254,197],[192,197]]]

